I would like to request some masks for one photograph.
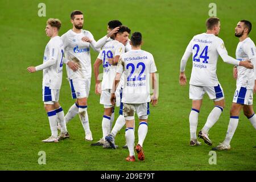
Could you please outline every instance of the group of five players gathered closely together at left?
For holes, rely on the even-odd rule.
[[[30,73],[43,70],[43,102],[46,109],[51,137],[43,142],[59,142],[69,138],[66,124],[79,114],[85,131],[85,140],[92,141],[92,131],[89,126],[87,101],[92,76],[90,48],[99,52],[93,65],[96,77],[96,94],[100,94],[100,104],[104,105],[102,118],[102,138],[92,146],[117,148],[115,135],[126,125],[126,147],[129,149],[127,161],[135,161],[134,126],[135,113],[139,118],[138,144],[135,146],[138,159],[144,160],[143,142],[147,135],[147,119],[149,103],[158,102],[158,85],[156,81],[156,66],[151,53],[143,51],[142,34],[123,26],[119,20],[108,23],[108,35],[96,42],[93,35],[83,30],[84,16],[81,11],[71,13],[73,27],[61,37],[59,19],[50,18],[46,23],[46,35],[51,38],[44,51],[43,64],[28,67]],[[59,104],[59,93],[63,75],[63,64],[67,64],[67,75],[71,87],[72,98],[76,99],[66,115]],[[99,67],[103,66],[102,82]],[[152,80],[152,83],[151,83]],[[150,90],[152,96],[150,96]],[[119,106],[119,117],[114,121],[114,106]],[[60,134],[58,135],[58,129]]]

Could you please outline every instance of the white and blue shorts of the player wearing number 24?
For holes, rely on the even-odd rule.
[[[218,86],[189,85],[189,99],[191,100],[202,100],[205,92],[210,100],[220,101],[224,99],[224,92],[220,83],[218,83]]]

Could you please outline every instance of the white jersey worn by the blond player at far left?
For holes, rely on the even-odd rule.
[[[55,36],[49,40],[44,49],[44,59],[55,60],[55,64],[51,67],[43,69],[43,86],[49,86],[50,89],[60,89],[63,72],[63,42],[59,36]]]

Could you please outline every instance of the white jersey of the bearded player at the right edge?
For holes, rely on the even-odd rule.
[[[255,44],[250,38],[246,38],[238,43],[236,50],[236,58],[239,61],[250,60],[256,57]],[[254,70],[247,69],[242,66],[237,67],[237,86],[243,86],[247,89],[254,88]]]

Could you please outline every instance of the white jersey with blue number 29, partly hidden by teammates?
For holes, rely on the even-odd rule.
[[[103,78],[101,82],[101,89],[112,89],[115,73],[117,73],[117,66],[110,65],[108,59],[115,56],[120,56],[125,52],[125,46],[117,40],[109,41],[102,47],[98,59],[102,60]]]

